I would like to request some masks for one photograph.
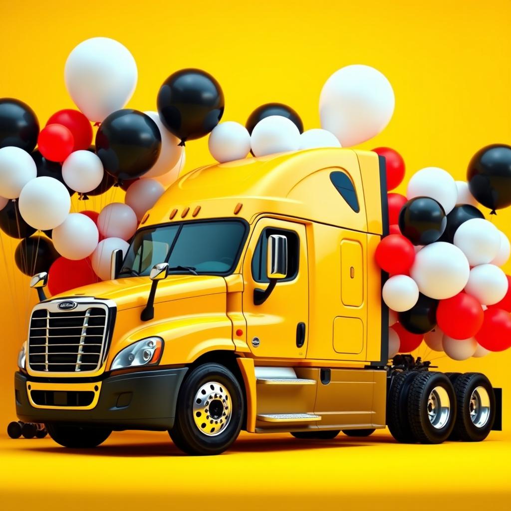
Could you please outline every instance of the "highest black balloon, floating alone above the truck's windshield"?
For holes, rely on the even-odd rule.
[[[161,122],[181,144],[210,133],[222,119],[225,101],[216,79],[201,69],[181,69],[158,92]]]

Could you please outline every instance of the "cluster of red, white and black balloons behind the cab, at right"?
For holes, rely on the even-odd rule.
[[[403,159],[388,148],[375,151],[386,157],[391,190],[403,179]],[[511,347],[511,277],[500,269],[511,247],[476,207],[479,201],[495,213],[511,203],[511,147],[481,149],[467,179],[428,167],[411,177],[406,197],[388,194],[389,235],[376,262],[390,275],[382,289],[389,358],[417,349],[423,338],[454,360]]]

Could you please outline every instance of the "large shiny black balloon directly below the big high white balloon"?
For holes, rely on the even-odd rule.
[[[161,134],[156,123],[138,110],[117,110],[96,133],[96,154],[103,168],[119,179],[144,175],[158,159]]]

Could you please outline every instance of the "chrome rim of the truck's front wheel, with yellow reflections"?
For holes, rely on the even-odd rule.
[[[197,390],[193,419],[203,435],[219,435],[229,424],[232,412],[230,395],[224,385],[207,382]]]

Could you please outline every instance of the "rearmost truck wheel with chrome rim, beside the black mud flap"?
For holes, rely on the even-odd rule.
[[[486,391],[487,396],[483,394],[482,398],[489,400],[487,403],[489,411],[486,417],[482,413],[477,414],[477,409],[474,406],[478,401],[479,406],[482,404],[479,394],[483,392],[478,391],[475,401],[471,403],[472,393],[478,387],[482,387]],[[495,392],[490,380],[480,373],[466,373],[456,380],[454,393],[456,394],[457,413],[452,436],[462,442],[481,442],[490,434],[495,422]],[[471,411],[475,412],[476,423],[472,421]],[[480,426],[477,425],[478,417],[481,421]]]

